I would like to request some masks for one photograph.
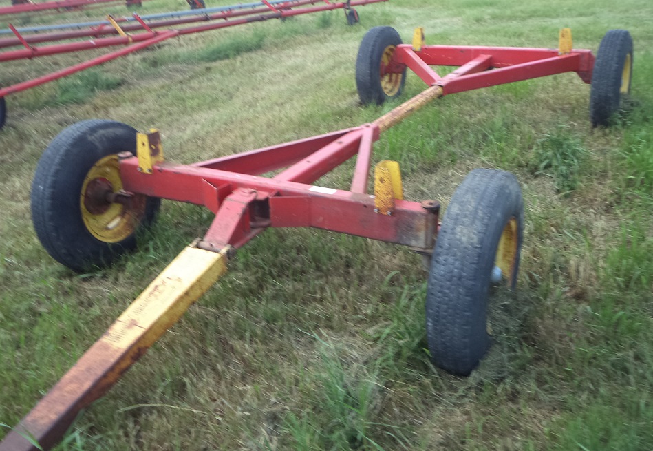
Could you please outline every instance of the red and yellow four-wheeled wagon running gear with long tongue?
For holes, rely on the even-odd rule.
[[[491,285],[517,282],[524,206],[515,176],[475,169],[458,186],[440,222],[435,200],[403,198],[398,163],[370,174],[382,132],[435,98],[539,76],[576,72],[591,83],[590,119],[609,123],[630,89],[632,40],[611,30],[597,58],[573,50],[425,45],[423,31],[402,43],[389,27],[372,28],[356,60],[363,104],[400,96],[407,69],[427,89],[392,111],[350,129],[192,165],[168,162],[156,129],[85,120],[47,147],[32,185],[34,228],[52,257],[75,271],[111,264],[136,247],[136,231],[155,219],[160,198],[215,213],[189,244],[50,392],[0,443],[1,451],[52,447],[78,412],[120,375],[226,272],[237,249],[268,227],[314,227],[403,244],[430,260],[426,324],[433,363],[469,375],[490,344],[486,306]],[[440,77],[432,66],[457,70]],[[314,185],[356,156],[349,191]],[[368,193],[368,180],[374,194]],[[373,182],[372,182],[373,180]]]

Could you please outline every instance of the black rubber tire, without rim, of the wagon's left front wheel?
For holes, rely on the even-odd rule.
[[[80,206],[83,182],[98,160],[121,151],[136,154],[136,129],[111,120],[83,120],[64,129],[47,146],[32,182],[32,222],[54,260],[74,271],[109,266],[136,247],[136,233],[107,243],[85,226]],[[147,198],[138,228],[153,222],[160,199]]]

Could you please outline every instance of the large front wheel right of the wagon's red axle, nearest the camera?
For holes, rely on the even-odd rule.
[[[471,171],[451,198],[431,260],[427,339],[436,366],[467,376],[482,359],[490,343],[490,285],[494,279],[515,287],[523,233],[524,202],[515,176]]]

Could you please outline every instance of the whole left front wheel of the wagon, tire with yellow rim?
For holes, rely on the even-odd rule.
[[[136,230],[153,222],[160,200],[122,190],[117,154],[136,154],[136,130],[110,120],[84,120],[45,149],[32,182],[32,221],[54,260],[74,271],[109,266],[136,247]]]

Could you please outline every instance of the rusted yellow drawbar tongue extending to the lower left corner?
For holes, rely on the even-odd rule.
[[[0,443],[0,451],[50,449],[80,410],[118,378],[226,271],[226,252],[186,247]]]

